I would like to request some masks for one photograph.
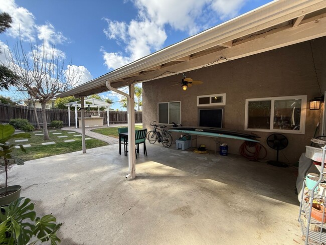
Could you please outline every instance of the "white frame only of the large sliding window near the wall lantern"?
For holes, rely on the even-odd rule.
[[[273,129],[274,125],[274,103],[275,100],[285,100],[285,99],[301,99],[301,112],[300,112],[300,130],[277,130]],[[261,100],[270,100],[270,128],[268,129],[251,129],[248,128],[248,104],[249,101],[261,101]],[[294,96],[281,96],[281,97],[266,97],[266,98],[252,98],[246,99],[246,108],[245,108],[245,130],[246,131],[260,131],[260,132],[277,132],[277,133],[286,133],[286,134],[304,134],[305,130],[305,115],[307,109],[307,95],[294,95]]]

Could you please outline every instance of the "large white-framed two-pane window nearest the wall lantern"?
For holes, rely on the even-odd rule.
[[[245,130],[304,134],[307,95],[246,99]]]

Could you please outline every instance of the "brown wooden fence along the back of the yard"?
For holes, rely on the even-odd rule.
[[[36,108],[40,124],[43,124],[42,110]],[[63,121],[64,126],[68,126],[68,110],[65,109],[47,109],[47,122],[50,124],[53,120]],[[85,117],[97,114],[97,110],[85,111]],[[107,112],[100,111],[100,116],[104,117],[103,125],[107,124]],[[77,117],[81,117],[81,112],[77,111]],[[31,124],[36,125],[34,109],[23,105],[10,105],[0,103],[0,122],[8,123],[10,119],[28,119]],[[142,111],[135,111],[135,122],[142,122]],[[127,111],[109,111],[109,124],[126,124]],[[70,125],[75,125],[75,111],[70,111]]]

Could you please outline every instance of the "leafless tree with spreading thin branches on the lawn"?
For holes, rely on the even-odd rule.
[[[64,69],[64,62],[54,45],[32,45],[26,52],[20,40],[7,56],[8,66],[20,77],[17,90],[38,100],[42,106],[44,140],[49,140],[46,103],[56,94],[74,87],[80,76],[73,69]],[[79,77],[78,77],[79,76]],[[35,107],[35,106],[34,106]]]

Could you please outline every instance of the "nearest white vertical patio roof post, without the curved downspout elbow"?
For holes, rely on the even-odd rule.
[[[127,100],[127,109],[128,109],[128,146],[129,146],[129,154],[128,154],[128,165],[129,165],[129,173],[131,174],[131,178],[136,177],[136,144],[135,144],[135,100],[134,100],[134,85],[129,85],[129,96],[130,99]]]

